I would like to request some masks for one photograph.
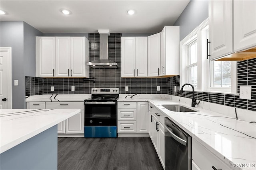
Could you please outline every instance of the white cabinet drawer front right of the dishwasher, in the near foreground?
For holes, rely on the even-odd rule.
[[[202,170],[212,170],[214,166],[218,170],[230,170],[232,167],[226,165],[217,158],[212,152],[192,138],[192,159]]]

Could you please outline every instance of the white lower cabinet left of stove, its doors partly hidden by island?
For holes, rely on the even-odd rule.
[[[58,124],[58,134],[84,133],[83,102],[46,102],[46,109],[81,109],[81,112]]]

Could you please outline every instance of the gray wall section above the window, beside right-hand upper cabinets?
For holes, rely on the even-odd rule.
[[[208,18],[208,0],[191,0],[174,26],[180,26],[180,41]]]

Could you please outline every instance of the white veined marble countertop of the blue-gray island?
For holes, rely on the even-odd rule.
[[[80,111],[80,109],[0,109],[0,153]]]

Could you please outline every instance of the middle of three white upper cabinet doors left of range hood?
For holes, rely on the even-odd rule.
[[[70,37],[56,37],[56,77],[70,76]]]

